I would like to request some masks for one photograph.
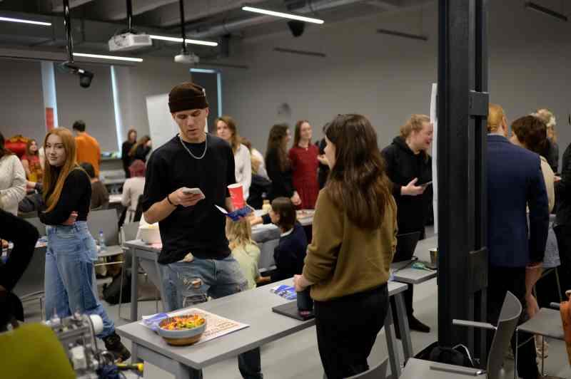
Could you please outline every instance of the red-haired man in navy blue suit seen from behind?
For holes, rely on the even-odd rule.
[[[490,104],[487,130],[487,318],[490,323],[497,323],[505,294],[510,291],[522,303],[523,322],[536,307],[526,289],[537,280],[545,254],[549,226],[547,191],[539,155],[507,140],[507,123],[499,105]],[[520,342],[524,343],[518,350],[518,375],[541,378],[535,363],[534,339],[521,333]]]

